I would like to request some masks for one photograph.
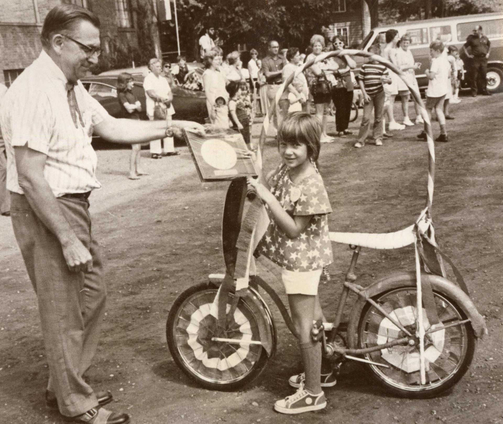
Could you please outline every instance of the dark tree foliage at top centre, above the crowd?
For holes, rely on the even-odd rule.
[[[307,46],[337,17],[337,0],[177,0],[180,44],[193,53],[206,25],[213,26],[228,52],[237,44],[265,52],[267,42],[278,39],[285,46]],[[346,0],[347,10],[360,10],[360,0]],[[174,20],[164,23],[164,49],[176,46]],[[166,46],[168,44],[169,46]]]

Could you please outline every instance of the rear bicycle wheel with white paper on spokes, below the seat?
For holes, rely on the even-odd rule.
[[[434,292],[440,323],[430,325],[423,308],[425,331],[466,320],[456,302]],[[374,300],[411,334],[417,328],[416,289],[400,287],[381,293]],[[358,326],[360,348],[382,345],[406,337],[370,303],[364,307]],[[379,365],[365,364],[370,375],[402,397],[429,398],[453,387],[465,374],[475,352],[476,339],[470,323],[456,325],[425,336],[426,384],[421,384],[419,346],[394,346],[364,355]]]

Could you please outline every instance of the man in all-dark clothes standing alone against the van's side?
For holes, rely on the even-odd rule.
[[[466,43],[462,47],[468,58],[466,67],[468,69],[470,88],[473,97],[477,95],[477,86],[479,94],[491,95],[491,93],[487,91],[486,79],[487,59],[489,58],[490,48],[491,42],[482,34],[482,27],[480,25],[475,26],[473,34],[470,34],[466,38]]]

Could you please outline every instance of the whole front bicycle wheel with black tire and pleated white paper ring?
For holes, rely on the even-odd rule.
[[[175,300],[166,322],[167,345],[180,369],[202,387],[235,390],[257,378],[269,357],[261,345],[246,343],[260,341],[257,319],[246,300],[239,300],[226,331],[217,326],[210,313],[217,291],[213,285],[198,284]],[[272,319],[270,324],[274,330]],[[242,343],[212,341],[212,337]]]

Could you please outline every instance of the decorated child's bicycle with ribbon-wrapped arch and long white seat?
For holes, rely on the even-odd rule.
[[[325,53],[315,60],[338,54],[370,56],[344,50]],[[380,61],[403,75],[389,62]],[[281,89],[294,77],[291,75]],[[435,241],[431,125],[420,94],[412,88],[411,92],[422,106],[428,139],[426,207],[414,224],[394,233],[330,233],[332,242],[348,244],[354,253],[333,322],[316,323],[313,328],[320,330],[323,355],[336,372],[345,361],[357,361],[395,395],[428,398],[461,379],[472,362],[477,339],[486,329],[461,275]],[[274,107],[271,105],[268,115]],[[261,142],[267,126],[266,115]],[[251,382],[276,352],[276,326],[259,289],[273,300],[295,335],[286,306],[271,286],[255,275],[253,240],[260,228],[262,203],[258,198],[247,200],[246,195],[245,178],[232,180],[222,220],[226,273],[210,275],[207,283],[185,290],[166,321],[167,345],[176,364],[199,385],[212,390],[235,390]],[[397,249],[411,244],[415,247],[415,271],[387,275],[365,288],[356,284],[354,270],[361,248]],[[443,260],[451,265],[458,285],[446,278]],[[343,323],[350,292],[358,296],[348,322]]]

